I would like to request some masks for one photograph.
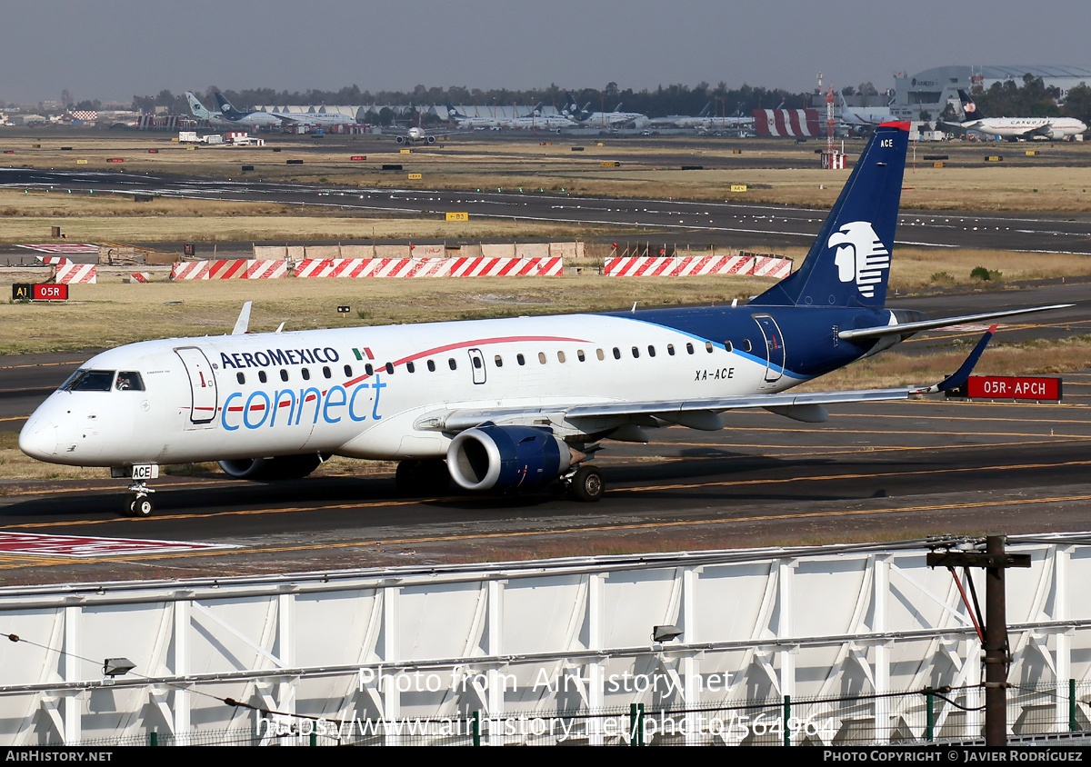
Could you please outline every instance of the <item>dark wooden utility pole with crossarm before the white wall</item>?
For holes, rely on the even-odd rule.
[[[944,550],[939,550],[943,548]],[[1008,651],[1008,624],[1005,599],[1004,571],[1008,567],[1030,567],[1030,554],[1008,554],[1004,551],[1004,536],[988,536],[984,540],[962,541],[949,547],[940,544],[927,556],[930,567],[947,567],[955,575],[956,567],[962,567],[973,604],[962,599],[967,611],[975,614],[979,637],[985,648],[985,745],[1003,747],[1008,742],[1008,664],[1011,656]],[[982,621],[973,582],[970,579],[970,567],[985,570],[985,616]],[[961,587],[960,587],[961,590]]]

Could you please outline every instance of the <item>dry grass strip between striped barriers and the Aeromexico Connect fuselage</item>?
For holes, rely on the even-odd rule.
[[[0,353],[110,347],[147,338],[229,332],[242,302],[254,301],[251,328],[480,319],[712,303],[764,290],[770,279],[699,277],[616,279],[594,275],[475,279],[276,279],[71,286],[63,304],[0,304]],[[352,313],[340,315],[348,304]],[[357,312],[363,312],[361,319]]]

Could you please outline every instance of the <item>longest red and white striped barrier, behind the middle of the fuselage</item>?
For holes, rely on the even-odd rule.
[[[297,277],[554,277],[560,257],[544,259],[303,259]]]

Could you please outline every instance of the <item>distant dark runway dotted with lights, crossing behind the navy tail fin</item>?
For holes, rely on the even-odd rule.
[[[631,232],[634,239],[662,239],[671,244],[702,247],[707,245],[710,238],[745,247],[754,243],[769,248],[810,245],[826,217],[826,211],[819,208],[724,201],[574,197],[532,190],[524,193],[357,189],[31,169],[0,169],[0,188],[261,201],[384,216],[437,218],[447,212],[466,212],[475,218],[599,226],[616,230],[618,233],[612,235],[616,238],[624,238],[626,232]],[[899,216],[896,243],[1091,255],[1091,216],[903,211]],[[163,243],[156,244],[164,247]],[[220,244],[223,250],[231,250],[230,243]],[[249,251],[250,244],[248,241],[243,250]],[[346,240],[344,244],[350,242]],[[84,256],[72,260],[94,259]],[[21,262],[33,262],[33,253],[13,248],[0,250],[0,263]]]

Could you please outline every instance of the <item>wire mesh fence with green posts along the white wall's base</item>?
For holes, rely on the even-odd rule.
[[[984,690],[926,687],[696,706],[640,703],[497,717],[461,711],[394,721],[255,710],[251,723],[249,729],[149,732],[67,745],[970,745],[984,742]],[[1091,682],[1012,685],[1008,733],[1012,743],[1091,744]]]

